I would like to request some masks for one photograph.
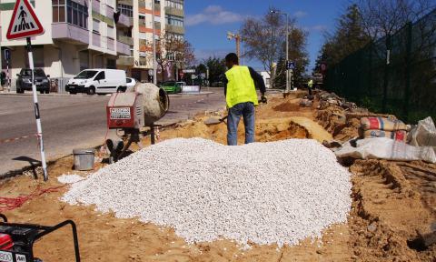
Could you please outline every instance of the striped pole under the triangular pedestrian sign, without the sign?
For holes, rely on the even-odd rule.
[[[47,163],[45,162],[45,153],[44,153],[43,128],[41,127],[41,117],[39,115],[38,96],[36,95],[36,86],[35,86],[34,55],[32,54],[32,43],[30,41],[30,37],[27,37],[26,40],[27,40],[27,54],[29,55],[29,68],[32,72],[32,92],[34,93],[36,131],[39,139],[39,147],[41,150],[41,164],[44,170],[44,181],[47,181],[48,174],[47,174]]]

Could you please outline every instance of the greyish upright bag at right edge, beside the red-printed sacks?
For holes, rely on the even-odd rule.
[[[432,146],[436,152],[436,126],[430,116],[419,121],[409,137],[411,146]]]

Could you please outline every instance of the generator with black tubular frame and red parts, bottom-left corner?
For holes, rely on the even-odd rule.
[[[34,257],[34,244],[42,237],[62,227],[71,226],[74,241],[74,259],[80,262],[77,229],[72,220],[65,220],[55,226],[9,223],[5,215],[0,214],[0,261],[1,262],[43,262]]]

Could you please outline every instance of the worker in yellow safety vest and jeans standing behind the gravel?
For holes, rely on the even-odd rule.
[[[225,56],[225,101],[227,102],[227,145],[238,145],[238,124],[243,116],[245,126],[245,144],[254,142],[254,106],[259,105],[256,87],[261,91],[261,101],[266,103],[263,77],[252,67],[239,65],[238,55]]]

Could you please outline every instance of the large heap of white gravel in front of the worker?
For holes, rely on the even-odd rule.
[[[350,173],[314,140],[222,146],[180,138],[105,166],[63,200],[174,227],[188,243],[282,247],[345,222],[351,187]]]

